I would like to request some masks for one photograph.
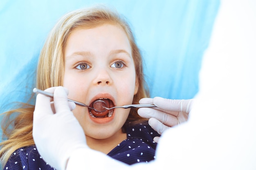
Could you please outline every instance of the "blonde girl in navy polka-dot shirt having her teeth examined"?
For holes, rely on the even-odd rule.
[[[101,99],[107,107],[138,104],[148,97],[144,89],[142,59],[130,26],[115,11],[92,7],[64,15],[54,26],[40,54],[37,88],[64,86],[68,97],[92,106]],[[38,154],[32,137],[34,106],[4,120],[6,141],[1,143],[4,169],[54,169]],[[135,109],[115,108],[97,112],[76,106],[87,144],[127,164],[154,159],[159,136]],[[12,126],[13,129],[8,130]],[[50,132],[49,132],[50,133]],[[100,161],[100,160],[99,160]]]

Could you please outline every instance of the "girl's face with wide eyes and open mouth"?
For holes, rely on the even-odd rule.
[[[113,24],[92,29],[76,28],[70,33],[64,50],[63,86],[68,97],[92,106],[97,99],[108,107],[132,104],[139,84],[129,40],[124,30]],[[121,132],[130,109],[116,108],[95,113],[76,106],[75,117],[85,134],[94,139],[108,139]]]

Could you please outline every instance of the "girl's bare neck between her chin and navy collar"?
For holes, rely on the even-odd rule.
[[[86,136],[86,135],[85,135]],[[108,154],[112,149],[114,149],[123,140],[127,139],[126,133],[121,130],[115,133],[112,137],[107,139],[94,139],[92,137],[86,136],[87,145],[94,150],[98,150],[105,154]]]

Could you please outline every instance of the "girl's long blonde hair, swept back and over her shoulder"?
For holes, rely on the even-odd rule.
[[[80,9],[64,15],[54,26],[40,53],[37,69],[36,87],[45,90],[53,86],[62,86],[64,74],[64,49],[70,32],[80,26],[85,28],[94,28],[101,24],[116,24],[121,26],[126,32],[132,48],[132,57],[135,64],[136,78],[139,83],[138,93],[134,96],[133,104],[138,104],[139,99],[148,97],[145,90],[142,58],[135,43],[134,35],[128,23],[121,18],[114,10],[105,6],[96,6],[88,9]],[[34,144],[32,137],[34,106],[24,104],[22,108],[11,110],[6,114],[5,123],[2,127],[3,134],[7,140],[0,146],[0,161],[6,164],[10,155],[18,148]],[[11,121],[10,115],[18,113]],[[131,110],[126,121],[127,123],[144,121],[137,114],[137,110]],[[11,130],[8,127],[13,125]]]

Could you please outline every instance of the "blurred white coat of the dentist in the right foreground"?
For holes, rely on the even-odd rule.
[[[256,1],[222,0],[189,121],[164,132],[173,170],[256,169]]]

